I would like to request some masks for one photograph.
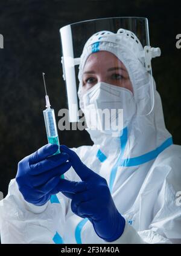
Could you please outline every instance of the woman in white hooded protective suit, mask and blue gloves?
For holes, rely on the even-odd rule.
[[[0,203],[2,243],[181,238],[181,148],[165,128],[142,49],[129,30],[89,38],[80,57],[78,97],[94,145],[61,145],[62,153],[52,156],[58,146],[48,144],[19,162]],[[109,128],[101,118],[105,109],[116,110]]]

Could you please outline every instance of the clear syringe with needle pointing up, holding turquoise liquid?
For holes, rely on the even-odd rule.
[[[45,86],[45,100],[46,100],[46,110],[43,110],[43,116],[45,120],[45,127],[46,127],[46,135],[48,139],[48,143],[51,144],[57,144],[58,146],[60,145],[59,143],[59,135],[57,133],[57,125],[56,125],[56,117],[54,113],[54,109],[50,108],[50,103],[49,103],[49,97],[46,91],[46,84],[45,84],[45,73],[43,74],[43,83]],[[60,149],[57,150],[54,155],[59,154]]]

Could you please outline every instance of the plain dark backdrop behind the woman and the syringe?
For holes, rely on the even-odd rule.
[[[162,56],[153,59],[152,64],[165,123],[174,143],[181,143],[181,49],[176,48],[176,34],[181,33],[179,4],[155,0],[1,0],[4,49],[0,49],[0,191],[4,195],[19,160],[47,143],[42,71],[57,120],[57,112],[66,107],[59,28],[72,22],[111,16],[148,18],[150,45],[162,50]],[[92,145],[86,131],[59,131],[59,137],[69,147]]]

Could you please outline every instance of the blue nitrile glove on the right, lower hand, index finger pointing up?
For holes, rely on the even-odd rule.
[[[69,155],[69,162],[82,180],[77,186],[86,184],[86,188],[81,192],[75,192],[69,188],[68,180],[62,180],[67,183],[66,193],[63,194],[72,199],[72,212],[82,218],[88,218],[99,237],[105,241],[115,241],[124,231],[125,219],[116,209],[106,179],[87,168],[67,146],[60,146],[60,151]]]

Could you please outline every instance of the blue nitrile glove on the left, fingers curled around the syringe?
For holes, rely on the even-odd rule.
[[[16,182],[27,202],[44,205],[59,192],[60,176],[71,168],[71,163],[66,153],[52,156],[58,148],[56,144],[46,144],[18,163]]]

